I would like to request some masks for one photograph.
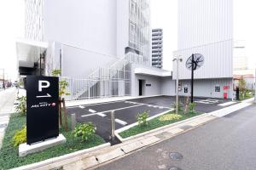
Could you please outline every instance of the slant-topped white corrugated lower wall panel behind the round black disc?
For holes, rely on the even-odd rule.
[[[183,62],[179,64],[179,79],[190,79],[191,71],[186,68],[186,61],[191,54],[202,54],[204,65],[194,72],[195,79],[223,78],[233,76],[233,43],[232,40],[216,42],[196,48],[174,52],[181,55]],[[177,77],[177,65],[173,62],[173,78]]]

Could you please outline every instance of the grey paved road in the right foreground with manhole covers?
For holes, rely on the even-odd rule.
[[[172,161],[171,152],[183,159]],[[97,169],[255,170],[256,105]]]

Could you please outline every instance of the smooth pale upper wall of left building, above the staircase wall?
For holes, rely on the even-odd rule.
[[[116,55],[116,0],[44,1],[44,40]]]

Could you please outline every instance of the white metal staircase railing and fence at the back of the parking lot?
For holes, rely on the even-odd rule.
[[[95,99],[131,95],[130,64],[150,65],[151,61],[138,54],[126,54],[125,58],[92,71],[87,78],[61,77],[66,79],[70,95],[67,100]]]

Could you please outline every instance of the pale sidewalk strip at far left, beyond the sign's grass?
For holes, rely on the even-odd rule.
[[[16,93],[17,90],[15,88],[7,88],[0,92],[0,148],[5,127],[9,122],[9,114],[13,112]]]

